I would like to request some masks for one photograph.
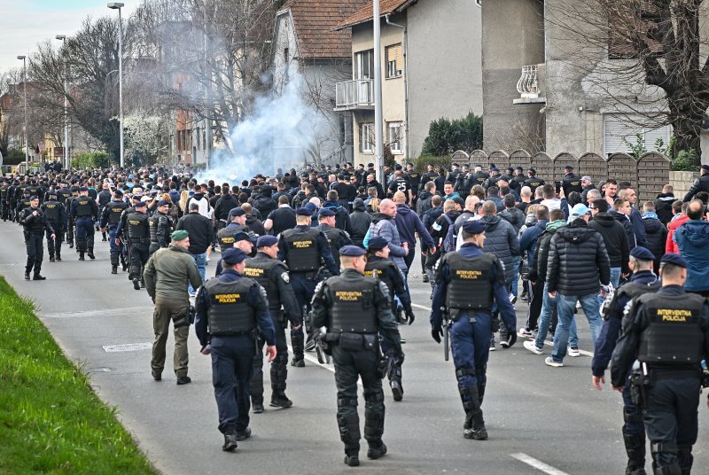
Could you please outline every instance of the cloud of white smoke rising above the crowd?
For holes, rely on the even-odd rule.
[[[273,176],[278,167],[285,172],[302,165],[321,126],[319,114],[303,98],[303,84],[300,74],[292,74],[282,93],[258,97],[253,114],[231,131],[235,154],[214,150],[209,167],[197,175],[199,183],[237,184],[260,173]]]

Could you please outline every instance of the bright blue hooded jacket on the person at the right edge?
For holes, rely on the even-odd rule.
[[[709,290],[709,222],[690,220],[674,231],[674,242],[687,261],[687,292]]]

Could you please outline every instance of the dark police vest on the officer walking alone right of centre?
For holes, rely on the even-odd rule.
[[[461,253],[447,253],[444,258],[450,271],[446,307],[461,311],[492,308],[493,284],[490,282],[490,274],[497,261],[495,254],[464,257]],[[502,269],[498,269],[498,272],[502,272]]]

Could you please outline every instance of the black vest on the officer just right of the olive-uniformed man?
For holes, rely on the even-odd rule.
[[[224,283],[219,278],[204,284],[209,297],[207,323],[212,335],[234,335],[256,328],[256,315],[246,303],[253,279],[242,277],[236,282]]]

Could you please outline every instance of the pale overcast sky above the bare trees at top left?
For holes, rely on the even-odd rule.
[[[0,72],[22,66],[18,55],[56,35],[73,35],[87,16],[118,15],[105,0],[0,0]],[[123,18],[140,0],[123,0]],[[58,43],[58,40],[54,40]]]

